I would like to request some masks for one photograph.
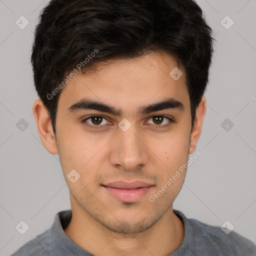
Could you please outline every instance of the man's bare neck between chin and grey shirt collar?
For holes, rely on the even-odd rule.
[[[172,207],[153,226],[139,233],[113,232],[78,205],[72,205],[71,208],[72,218],[64,232],[91,254],[166,256],[176,250],[184,238],[183,223],[173,213]]]

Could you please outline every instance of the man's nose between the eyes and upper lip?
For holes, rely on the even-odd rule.
[[[142,131],[141,131],[142,132]],[[109,161],[112,165],[132,171],[148,162],[148,145],[135,125],[123,131],[119,129],[111,140]]]

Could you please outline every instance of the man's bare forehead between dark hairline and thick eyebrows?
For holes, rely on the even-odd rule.
[[[175,74],[181,76],[174,79]],[[104,61],[92,72],[75,75],[62,88],[58,108],[67,109],[84,97],[129,111],[166,97],[181,101],[185,108],[189,105],[183,68],[172,56],[159,52]]]

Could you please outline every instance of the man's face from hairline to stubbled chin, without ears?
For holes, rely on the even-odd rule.
[[[61,90],[56,143],[71,205],[112,231],[151,227],[184,181],[185,169],[172,178],[193,151],[185,73],[169,74],[176,66],[166,53],[105,61]]]

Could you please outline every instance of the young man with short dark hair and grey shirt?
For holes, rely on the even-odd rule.
[[[45,148],[71,210],[16,255],[256,255],[172,208],[206,112],[211,28],[193,0],[52,0],[32,50]]]

